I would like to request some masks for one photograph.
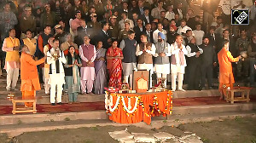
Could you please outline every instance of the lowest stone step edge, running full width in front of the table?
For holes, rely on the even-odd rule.
[[[175,126],[177,127],[181,123],[195,123],[195,122],[211,122],[213,120],[223,121],[224,119],[237,118],[237,117],[256,117],[255,111],[250,112],[218,112],[208,114],[197,114],[179,116],[173,115],[168,120],[163,117],[153,118],[151,125],[147,125],[143,122],[134,123],[133,126],[142,127],[146,129],[160,129],[163,126]],[[163,122],[165,120],[166,122]],[[9,137],[14,137],[25,132],[38,132],[55,129],[78,129],[78,128],[90,128],[96,126],[128,126],[131,124],[113,123],[108,119],[102,120],[77,120],[77,121],[60,121],[60,122],[44,122],[44,123],[19,123],[12,125],[0,126],[0,134],[8,134]],[[125,127],[124,127],[125,129]]]

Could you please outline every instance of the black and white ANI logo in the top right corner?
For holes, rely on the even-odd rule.
[[[231,25],[249,25],[249,9],[232,9]]]

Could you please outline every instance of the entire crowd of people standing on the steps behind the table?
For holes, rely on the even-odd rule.
[[[150,88],[166,79],[172,91],[185,91],[183,83],[188,89],[212,89],[218,73],[221,86],[228,85],[222,82],[230,72],[255,86],[253,0],[201,0],[202,16],[194,14],[195,5],[186,0],[6,1],[0,13],[0,75],[5,69],[6,89],[18,90],[20,71],[26,98],[44,83],[52,105],[61,104],[62,90],[73,103],[79,93],[103,94],[104,87],[120,88],[123,80],[132,87],[137,70],[149,72]],[[230,26],[230,9],[250,9],[250,25]],[[221,74],[223,55],[236,63]]]

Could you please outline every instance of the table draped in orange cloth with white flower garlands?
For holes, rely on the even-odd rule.
[[[172,91],[105,94],[109,119],[116,123],[151,123],[151,117],[172,114]]]

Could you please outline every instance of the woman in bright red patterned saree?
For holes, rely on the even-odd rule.
[[[112,46],[107,51],[107,69],[109,73],[109,87],[120,88],[122,84],[122,59],[124,59],[122,49],[117,47],[117,41],[113,41]]]

